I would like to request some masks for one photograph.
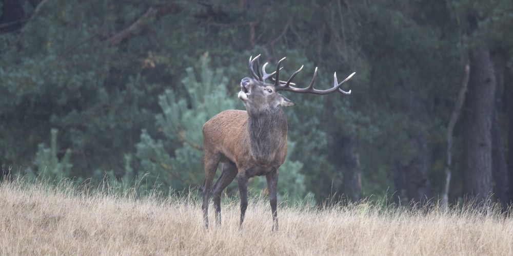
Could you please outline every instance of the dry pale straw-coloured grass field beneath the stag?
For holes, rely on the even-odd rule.
[[[360,203],[319,210],[253,199],[239,230],[236,201],[205,230],[191,198],[129,195],[23,182],[0,185],[0,252],[65,255],[513,255],[513,219],[490,208],[444,213]],[[210,220],[213,222],[213,209]]]

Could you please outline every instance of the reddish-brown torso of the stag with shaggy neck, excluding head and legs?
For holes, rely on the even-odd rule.
[[[212,117],[203,125],[206,159],[219,155],[219,162],[234,163],[248,178],[277,169],[287,155],[287,120],[281,109],[276,111],[251,117],[226,110]]]

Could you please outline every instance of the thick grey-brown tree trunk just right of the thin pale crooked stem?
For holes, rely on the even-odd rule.
[[[487,49],[470,51],[470,73],[465,113],[463,176],[467,196],[478,201],[492,193],[492,138],[496,80]]]

